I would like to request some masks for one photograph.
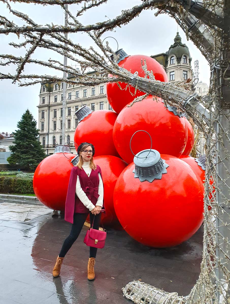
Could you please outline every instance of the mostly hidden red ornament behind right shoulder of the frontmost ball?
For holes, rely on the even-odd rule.
[[[201,156],[200,158],[194,158],[188,155],[181,155],[180,159],[185,161],[189,166],[193,169],[193,172],[200,177],[201,181],[204,183],[205,180],[205,155]]]

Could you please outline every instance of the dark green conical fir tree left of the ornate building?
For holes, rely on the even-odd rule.
[[[9,146],[12,154],[7,158],[11,165],[19,164],[27,170],[35,170],[46,157],[38,138],[37,122],[27,109],[13,132],[14,145]]]

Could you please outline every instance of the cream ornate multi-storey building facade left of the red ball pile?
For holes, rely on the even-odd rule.
[[[93,75],[93,72],[90,73]],[[69,75],[68,79],[74,78]],[[100,109],[112,110],[106,97],[106,85],[101,84],[95,87],[83,85],[67,85],[66,88],[66,142],[68,141],[71,150],[76,154],[74,148],[74,132],[78,120],[74,113],[83,105],[87,105],[93,111]],[[41,85],[38,107],[38,129],[40,129],[39,140],[44,147],[46,154],[54,153],[54,147],[62,142],[62,98],[63,83],[45,82]]]

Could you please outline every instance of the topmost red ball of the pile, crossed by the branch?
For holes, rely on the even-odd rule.
[[[167,74],[166,74],[164,68],[161,66],[161,64],[159,64],[157,62],[157,60],[155,60],[149,56],[132,55],[132,56],[126,57],[124,60],[121,60],[118,65],[120,67],[124,67],[128,71],[131,71],[131,73],[135,73],[136,71],[138,71],[138,76],[145,77],[145,72],[142,69],[141,60],[143,61],[143,65],[144,65],[144,60],[146,60],[148,71],[151,71],[151,70],[153,71],[153,74],[154,74],[156,80],[168,82],[168,77],[167,77]],[[112,76],[112,75],[110,74],[109,76]],[[130,92],[132,92],[134,94],[135,88],[133,88],[130,85],[130,87],[129,87],[130,92],[129,92],[129,88],[127,88],[127,90],[125,90],[126,85],[127,85],[126,83],[119,82],[119,85],[124,90],[121,90],[115,82],[108,82],[107,86],[106,86],[106,94],[107,94],[108,101],[109,101],[111,107],[117,113],[120,113],[121,110],[124,108],[124,106],[126,106],[128,103],[133,101],[134,98],[145,94],[145,93],[137,90],[135,96],[133,96],[130,94]]]

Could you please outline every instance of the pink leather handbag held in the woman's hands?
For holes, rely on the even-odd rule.
[[[93,226],[94,226],[94,220],[92,223],[92,228],[89,228],[86,233],[86,236],[84,238],[84,243],[90,247],[103,248],[106,239],[106,232],[104,231],[103,224],[102,224],[103,231],[93,229]]]

